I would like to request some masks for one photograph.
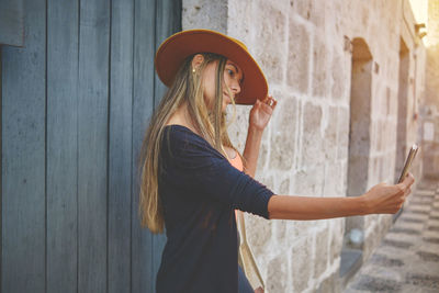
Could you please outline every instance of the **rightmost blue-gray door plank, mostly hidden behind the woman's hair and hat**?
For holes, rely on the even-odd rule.
[[[156,2],[156,40],[155,50],[158,46],[173,33],[181,31],[181,1],[180,0],[162,0]],[[159,104],[167,87],[155,75],[154,78],[154,103],[155,108]],[[166,235],[153,236],[153,273],[156,279],[161,262],[161,253],[166,244]],[[154,282],[153,292],[156,291]]]

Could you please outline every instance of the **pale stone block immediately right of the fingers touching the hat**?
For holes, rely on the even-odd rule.
[[[290,170],[294,165],[297,101],[279,100],[270,138],[270,169]]]

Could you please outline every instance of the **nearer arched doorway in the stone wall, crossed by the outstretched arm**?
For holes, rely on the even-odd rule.
[[[369,179],[372,54],[363,38],[352,41],[352,69],[350,91],[350,126],[347,196],[367,191]],[[344,248],[341,250],[340,277],[345,284],[361,266],[364,223],[363,217],[345,219]]]

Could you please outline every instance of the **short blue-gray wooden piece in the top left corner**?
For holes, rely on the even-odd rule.
[[[0,45],[23,46],[23,0],[0,0]]]

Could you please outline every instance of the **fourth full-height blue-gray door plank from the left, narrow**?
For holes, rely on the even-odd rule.
[[[134,1],[111,9],[109,292],[131,292]]]

